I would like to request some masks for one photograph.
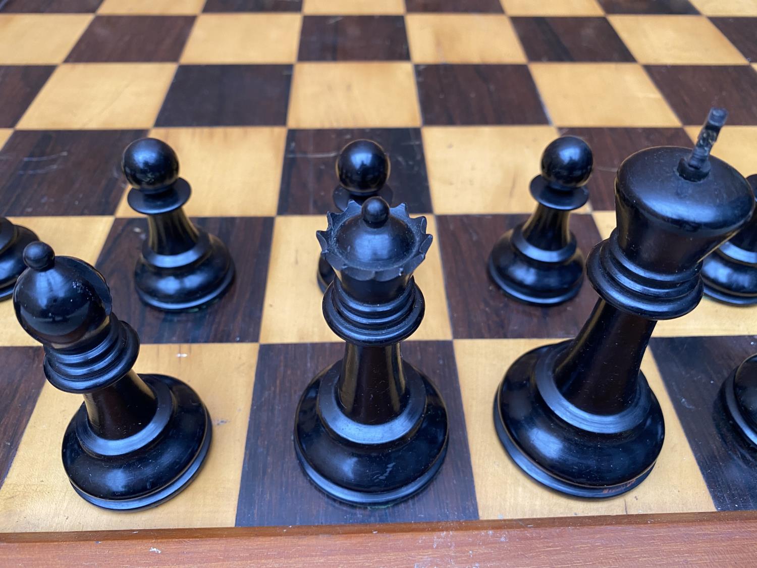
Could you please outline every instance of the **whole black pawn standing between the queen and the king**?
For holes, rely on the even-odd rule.
[[[501,236],[489,255],[489,275],[506,295],[554,305],[581,290],[584,254],[568,223],[570,212],[589,198],[585,184],[592,166],[591,148],[576,136],[562,136],[544,149],[541,175],[531,180],[536,211]]]

